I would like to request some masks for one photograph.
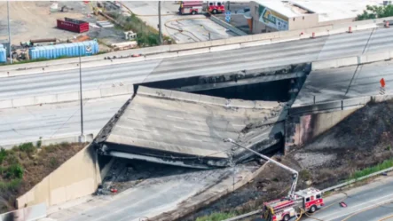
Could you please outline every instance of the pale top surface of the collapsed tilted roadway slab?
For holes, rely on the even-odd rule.
[[[252,123],[276,122],[283,107],[278,102],[256,107],[254,101],[240,101],[141,86],[105,135],[106,151],[146,154],[154,150],[163,155],[224,159],[232,148],[224,138],[253,146],[283,133],[282,127],[262,125],[243,132]],[[140,148],[138,152],[135,147]]]

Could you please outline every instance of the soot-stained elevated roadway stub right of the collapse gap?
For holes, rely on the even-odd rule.
[[[314,96],[316,102],[326,102],[378,95],[382,77],[385,93],[393,93],[393,61],[312,71],[294,105],[312,104]]]

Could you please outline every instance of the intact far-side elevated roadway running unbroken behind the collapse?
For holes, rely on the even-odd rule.
[[[83,90],[111,87],[113,83],[133,84],[185,76],[214,75],[358,55],[365,51],[386,51],[393,46],[392,36],[391,28],[375,31],[370,29],[232,51],[83,68]],[[78,83],[78,70],[0,78],[0,100],[79,91]]]

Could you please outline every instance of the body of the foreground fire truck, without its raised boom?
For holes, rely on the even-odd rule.
[[[307,188],[295,193],[294,199],[284,197],[263,203],[262,217],[266,221],[288,221],[299,215],[302,209],[315,212],[324,205],[322,193],[315,188]]]

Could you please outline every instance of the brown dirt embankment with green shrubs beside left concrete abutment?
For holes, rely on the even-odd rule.
[[[15,199],[78,153],[86,144],[33,146],[32,143],[0,149],[0,213],[15,209]]]

